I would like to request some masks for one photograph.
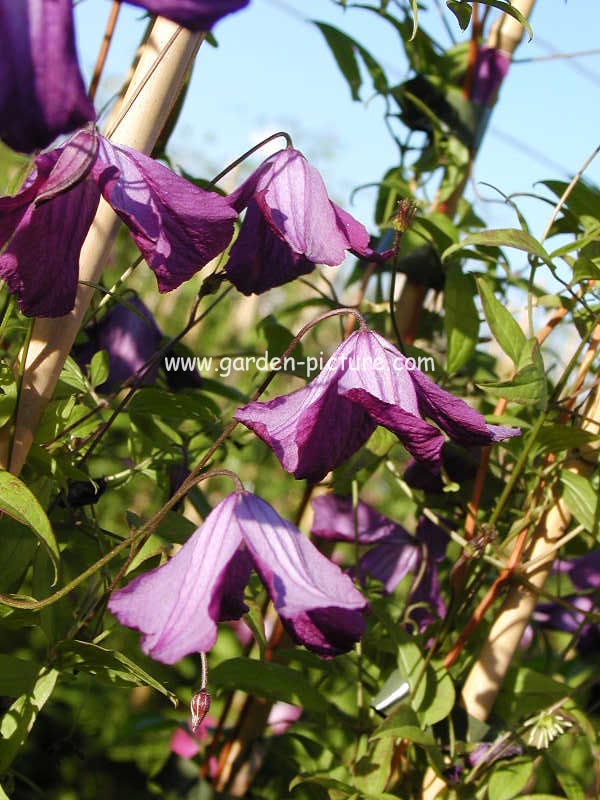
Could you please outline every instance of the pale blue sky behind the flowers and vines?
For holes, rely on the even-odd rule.
[[[82,0],[77,6],[80,60],[87,76],[109,9],[108,0]],[[460,38],[454,18],[445,13]],[[368,81],[363,102],[353,102],[310,19],[329,22],[359,39],[391,80],[405,77],[406,59],[397,35],[374,14],[344,12],[331,0],[251,0],[247,9],[215,28],[218,48],[202,46],[171,152],[192,174],[207,176],[263,134],[285,128],[321,169],[335,199],[372,228],[374,192],[359,193],[353,205],[350,194],[381,178],[396,162],[396,146],[383,123],[382,103],[369,102]],[[118,88],[144,25],[139,8],[123,6],[101,97]],[[561,52],[594,49],[600,3],[538,0],[532,26],[534,39],[521,45],[518,59],[546,56],[551,47]],[[426,27],[448,45],[436,15]],[[477,158],[475,182],[506,193],[530,192],[536,181],[573,174],[600,140],[599,95],[600,55],[513,64]],[[600,160],[588,175],[600,183]],[[491,194],[482,186],[480,191]],[[527,201],[524,207],[539,235],[547,207]],[[479,210],[490,227],[515,224],[514,215],[497,204]]]

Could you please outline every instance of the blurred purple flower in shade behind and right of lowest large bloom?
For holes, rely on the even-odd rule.
[[[356,510],[349,497],[322,495],[312,501],[312,534],[329,541],[374,545],[361,556],[356,572],[364,583],[375,578],[391,594],[407,575],[413,576],[408,603],[410,618],[423,632],[443,617],[446,606],[441,596],[436,563],[446,554],[446,533],[425,517],[420,517],[411,536],[401,525],[359,501]]]

